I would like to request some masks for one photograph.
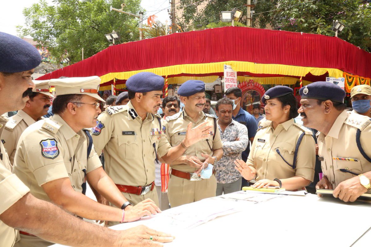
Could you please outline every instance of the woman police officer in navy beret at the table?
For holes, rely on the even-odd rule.
[[[246,180],[257,181],[255,188],[308,186],[314,176],[315,142],[310,130],[294,122],[298,109],[293,90],[272,87],[262,101],[267,121],[258,129],[246,163],[237,159],[235,168]]]

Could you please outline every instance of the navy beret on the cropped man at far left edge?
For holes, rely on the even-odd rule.
[[[0,71],[16,73],[35,69],[41,63],[39,51],[27,41],[0,32]]]

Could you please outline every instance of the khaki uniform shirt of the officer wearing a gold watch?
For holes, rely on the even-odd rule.
[[[356,174],[371,171],[371,164],[359,152],[355,136],[357,130],[361,130],[361,146],[368,157],[371,157],[371,121],[368,117],[359,114],[343,111],[332,125],[327,136],[320,133],[318,142],[318,155],[323,159],[321,168],[335,189],[339,183],[354,174],[342,172],[345,169]],[[334,160],[334,158],[348,158]],[[350,159],[349,159],[350,158]],[[355,161],[357,159],[358,161]]]

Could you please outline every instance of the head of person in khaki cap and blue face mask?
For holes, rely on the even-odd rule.
[[[358,85],[350,91],[353,113],[371,117],[371,87],[369,85]]]

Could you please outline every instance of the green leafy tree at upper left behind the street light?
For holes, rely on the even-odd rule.
[[[125,0],[124,11],[137,14],[141,0]],[[25,8],[25,26],[18,33],[31,36],[40,46],[47,47],[57,63],[68,56],[73,62],[90,57],[108,47],[104,34],[117,31],[121,42],[139,39],[139,20],[127,14],[109,11],[120,8],[122,0],[45,0]],[[116,43],[119,43],[116,41]]]

